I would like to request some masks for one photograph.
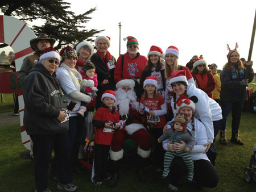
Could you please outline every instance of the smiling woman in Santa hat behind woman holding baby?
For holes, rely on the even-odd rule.
[[[76,46],[76,52],[78,59],[76,61],[76,70],[81,74],[82,78],[84,79],[84,73],[82,72],[82,66],[88,61],[90,61],[90,57],[93,55],[93,45],[90,44],[88,41],[82,41]]]

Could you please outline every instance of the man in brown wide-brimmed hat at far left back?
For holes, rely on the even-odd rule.
[[[44,49],[53,47],[56,39],[49,38],[46,34],[41,34],[35,39],[30,40],[30,47],[35,51],[33,55],[26,57],[23,60],[22,66],[18,73],[18,80],[23,82],[24,78],[30,72],[32,67],[35,65],[35,60],[38,60],[39,57],[44,52]]]

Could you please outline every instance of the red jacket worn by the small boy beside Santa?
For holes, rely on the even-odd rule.
[[[94,137],[95,144],[111,145],[114,132],[103,132],[106,121],[119,122],[119,113],[115,110],[115,107],[113,107],[113,110],[110,110],[108,107],[100,107],[97,109],[92,122],[93,126],[96,127]]]

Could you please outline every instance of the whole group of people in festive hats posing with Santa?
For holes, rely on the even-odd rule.
[[[221,73],[220,107],[220,101],[213,100],[212,91],[219,89],[214,70],[209,73],[205,60],[195,59],[191,71],[178,64],[179,49],[173,45],[165,54],[153,45],[144,57],[135,37],[124,40],[127,52],[117,61],[108,51],[108,36],[96,38],[96,53],[88,41],[60,53],[52,48],[55,39],[46,34],[30,41],[35,53],[24,59],[18,77],[36,191],[50,191],[47,173],[53,150],[51,176],[59,181],[57,189],[77,190],[72,172],[82,174],[78,155],[86,115],[94,110],[94,185],[104,180],[110,187],[117,185],[123,145],[130,138],[138,144],[139,181],[147,180],[143,167],[151,156],[156,171],[170,177],[171,190],[177,190],[186,172],[189,182],[217,186],[215,137],[221,130],[220,142],[226,142],[226,119],[232,110],[231,141],[242,143],[238,128],[245,87],[253,79],[251,65],[245,68],[237,50],[229,51]],[[217,69],[215,64],[209,67]]]

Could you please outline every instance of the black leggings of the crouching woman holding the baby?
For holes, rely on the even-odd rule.
[[[181,157],[174,157],[170,166],[170,183],[174,186],[179,185],[179,180],[184,173],[187,173],[187,167]],[[204,187],[214,188],[218,185],[218,174],[214,166],[207,160],[194,161],[193,180]]]

